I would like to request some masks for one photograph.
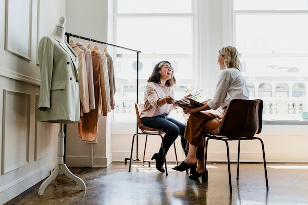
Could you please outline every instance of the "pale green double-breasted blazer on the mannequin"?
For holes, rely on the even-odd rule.
[[[59,36],[44,36],[38,45],[41,73],[36,120],[54,123],[80,121],[78,57]]]

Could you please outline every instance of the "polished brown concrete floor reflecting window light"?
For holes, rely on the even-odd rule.
[[[38,196],[41,182],[5,205],[308,205],[308,164],[267,164],[269,190],[266,191],[263,164],[242,163],[236,180],[236,164],[231,164],[232,194],[229,192],[226,163],[209,163],[206,183],[191,180],[185,172],[171,169],[168,176],[154,163],[142,167],[134,162],[114,162],[108,168],[70,167],[83,179],[86,191],[65,175],[51,182]]]

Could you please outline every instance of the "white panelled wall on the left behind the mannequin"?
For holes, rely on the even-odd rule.
[[[65,15],[63,0],[32,0],[31,12],[30,4],[22,8],[29,9],[27,11],[32,15],[29,25],[19,25],[32,28],[31,43],[19,45],[21,50],[31,49],[31,59],[28,60],[4,50],[5,2],[0,0],[0,204],[49,176],[56,165],[59,124],[35,120],[40,85],[36,50],[39,39],[49,35],[59,17]],[[16,9],[12,6],[18,4],[9,4],[9,9],[14,11]],[[22,21],[26,17],[17,16],[17,19]],[[17,36],[13,40],[18,42],[27,33],[14,32],[10,37]]]

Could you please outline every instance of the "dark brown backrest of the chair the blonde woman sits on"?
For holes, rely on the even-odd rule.
[[[263,101],[232,100],[225,111],[219,134],[228,138],[253,137],[261,132]]]

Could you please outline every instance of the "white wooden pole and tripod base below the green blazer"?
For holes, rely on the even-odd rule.
[[[51,175],[48,176],[47,179],[45,179],[45,181],[43,181],[43,183],[41,184],[41,186],[38,189],[38,195],[43,195],[45,188],[47,187],[47,185],[54,180],[54,185],[57,185],[57,177],[59,175],[65,174],[66,176],[68,176],[69,178],[71,178],[72,180],[74,180],[75,182],[77,182],[80,187],[81,190],[86,190],[86,184],[85,182],[79,178],[78,176],[75,176],[74,174],[72,174],[67,166],[63,163],[63,155],[64,155],[64,132],[62,131],[62,122],[60,123],[60,131],[58,134],[58,164],[56,165],[55,169],[52,171]]]

